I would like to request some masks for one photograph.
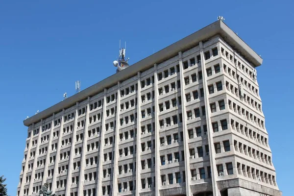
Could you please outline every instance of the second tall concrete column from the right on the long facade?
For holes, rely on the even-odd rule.
[[[186,173],[186,195],[193,196],[191,190],[191,172],[190,172],[190,159],[189,159],[189,135],[187,133],[187,111],[186,111],[186,97],[185,97],[185,81],[184,69],[182,62],[182,52],[179,52],[179,67],[180,67],[180,83],[181,83],[181,97],[182,97],[182,118],[183,118],[183,137],[184,137],[184,150],[185,150],[185,173]]]

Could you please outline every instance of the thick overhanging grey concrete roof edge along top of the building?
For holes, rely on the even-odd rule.
[[[138,72],[147,70],[155,63],[159,64],[165,60],[176,56],[179,51],[186,51],[188,49],[196,47],[200,41],[207,40],[208,38],[220,34],[224,41],[230,45],[233,49],[237,50],[253,67],[258,67],[262,64],[262,58],[251,49],[232,29],[230,29],[221,20],[216,21],[195,33],[173,43],[172,45],[161,49],[160,51],[146,57],[145,59],[133,64],[132,66],[122,70],[119,73],[115,73],[102,81],[88,87],[87,89],[69,97],[46,110],[39,112],[38,114],[26,119],[24,121],[25,126],[29,126],[32,123],[37,123],[41,119],[50,117],[53,113],[58,113],[63,108],[69,108],[73,106],[77,101],[84,100],[88,97],[94,96],[99,92],[102,92],[104,88],[109,88],[116,85],[119,81],[123,81]]]

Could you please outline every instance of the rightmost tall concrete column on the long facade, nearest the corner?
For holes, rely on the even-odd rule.
[[[205,58],[203,53],[203,44],[202,41],[199,42],[199,48],[200,48],[200,57],[201,57],[201,70],[202,70],[202,81],[203,81],[203,90],[204,90],[204,104],[205,104],[205,112],[206,112],[206,124],[207,124],[207,134],[208,134],[208,144],[209,144],[209,158],[210,158],[210,168],[211,168],[211,179],[212,179],[212,189],[213,189],[213,195],[214,196],[220,196],[220,190],[218,188],[217,184],[217,177],[218,177],[218,171],[216,166],[216,160],[215,160],[215,154],[216,151],[214,149],[214,143],[213,143],[213,128],[211,124],[211,111],[209,106],[209,91],[207,87],[207,73],[206,66],[205,66]]]

